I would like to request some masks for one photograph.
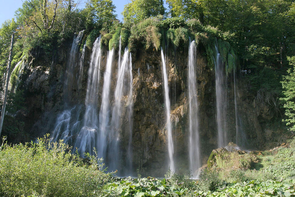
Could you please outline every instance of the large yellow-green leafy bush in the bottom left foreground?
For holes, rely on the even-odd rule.
[[[49,135],[37,143],[0,147],[0,196],[99,196],[108,178],[101,159],[87,154],[89,164],[62,141]],[[98,162],[97,162],[98,161]]]

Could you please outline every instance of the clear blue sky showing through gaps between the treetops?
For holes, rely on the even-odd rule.
[[[0,26],[5,20],[14,18],[14,12],[22,6],[23,1],[24,0],[0,0]],[[116,6],[117,18],[120,21],[123,21],[121,13],[124,10],[124,5],[130,2],[130,0],[113,0],[114,5]],[[81,0],[79,7],[85,7],[84,0]]]

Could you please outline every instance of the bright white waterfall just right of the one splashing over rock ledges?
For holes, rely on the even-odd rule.
[[[109,51],[108,58],[106,61],[106,70],[104,72],[104,85],[102,88],[101,107],[99,112],[99,135],[97,140],[97,150],[101,153],[101,157],[104,158],[106,156],[106,136],[108,131],[107,126],[109,123],[109,95],[111,88],[113,58],[114,48],[111,51]]]

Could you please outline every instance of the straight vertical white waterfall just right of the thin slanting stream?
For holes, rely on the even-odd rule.
[[[189,45],[189,167],[195,178],[201,167],[199,148],[199,113],[196,87],[196,42]]]

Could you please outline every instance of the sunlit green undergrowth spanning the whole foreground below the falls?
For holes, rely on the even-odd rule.
[[[199,180],[190,173],[168,170],[165,178],[118,178],[105,173],[101,159],[51,142],[48,135],[27,144],[0,146],[0,196],[295,196],[295,143],[263,152],[257,169],[203,170]],[[258,168],[260,167],[260,168]]]

